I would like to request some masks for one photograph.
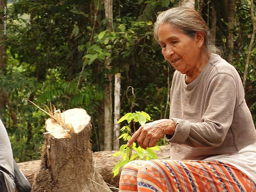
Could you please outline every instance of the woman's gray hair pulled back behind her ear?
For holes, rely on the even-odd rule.
[[[221,54],[221,50],[218,47],[215,47],[215,45],[212,45],[211,41],[209,41],[209,28],[196,10],[179,6],[160,12],[153,28],[153,35],[156,40],[158,40],[159,27],[165,23],[170,23],[173,27],[181,29],[181,31],[192,39],[194,39],[196,31],[202,31],[204,33],[204,45],[206,51],[209,53]]]

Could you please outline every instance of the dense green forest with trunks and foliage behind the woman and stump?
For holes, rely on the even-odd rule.
[[[115,135],[120,127],[114,128],[118,113],[120,117],[132,109],[147,112],[152,120],[168,118],[174,70],[153,40],[152,28],[157,12],[179,2],[0,0],[0,27],[2,31],[6,27],[6,35],[0,36],[0,118],[16,161],[40,158],[48,118],[25,98],[42,108],[41,103],[52,102],[61,110],[87,110],[93,151],[118,149]],[[196,0],[195,9],[211,29],[213,43],[223,50],[222,57],[244,81],[246,102],[256,122],[256,6],[252,2],[256,3]],[[114,104],[118,83],[120,112]]]

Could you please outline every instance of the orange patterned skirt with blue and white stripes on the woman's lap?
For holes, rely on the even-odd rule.
[[[256,192],[256,186],[229,163],[156,159],[124,165],[119,192]]]

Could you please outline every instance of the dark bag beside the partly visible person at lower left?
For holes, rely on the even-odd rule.
[[[17,165],[16,161],[13,159],[14,165],[14,182],[16,184],[16,188],[19,192],[31,192],[31,185],[29,181]]]

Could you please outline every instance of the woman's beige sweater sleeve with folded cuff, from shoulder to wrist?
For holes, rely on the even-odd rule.
[[[207,86],[206,86],[207,87]],[[206,91],[201,122],[171,118],[176,125],[173,135],[165,135],[167,142],[190,147],[221,145],[231,126],[236,103],[236,83],[229,74],[216,75]],[[196,110],[196,109],[195,109]]]

